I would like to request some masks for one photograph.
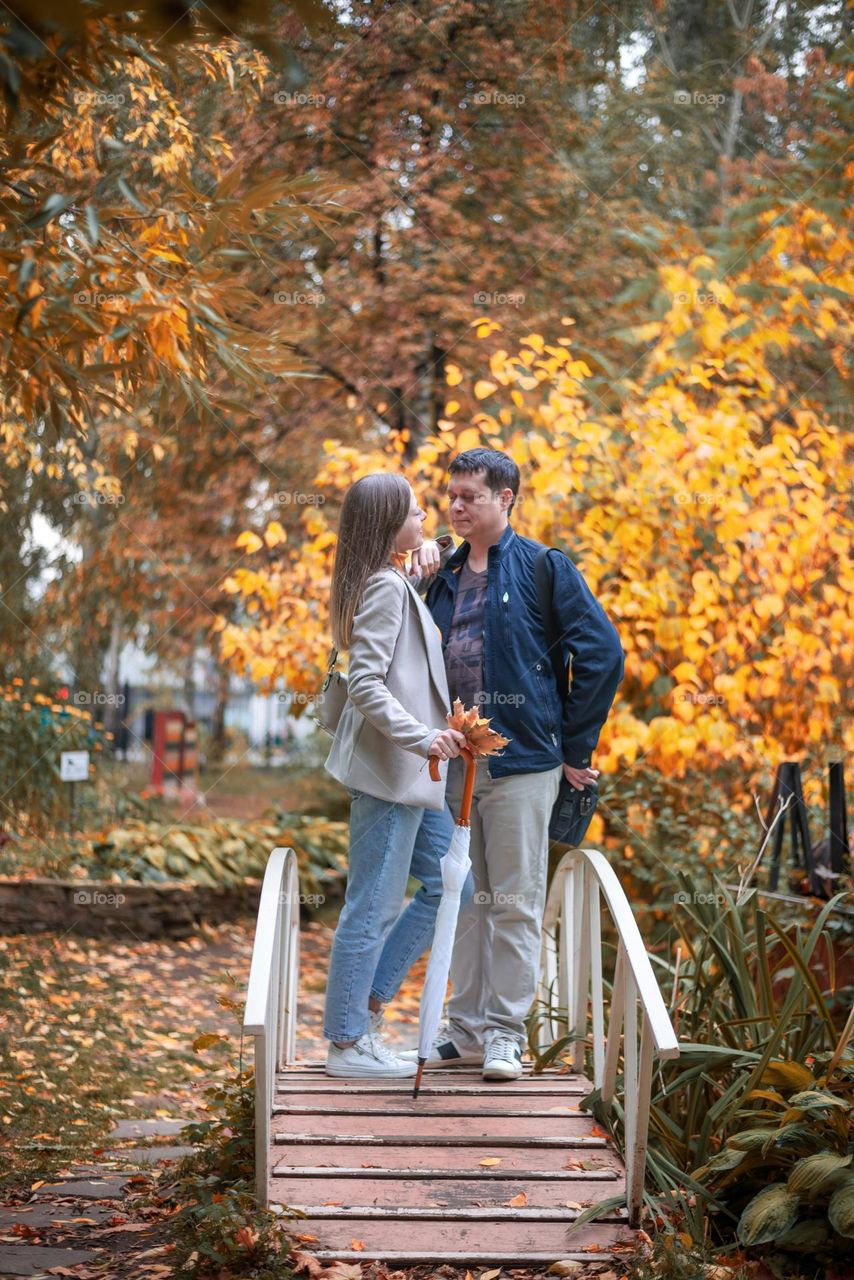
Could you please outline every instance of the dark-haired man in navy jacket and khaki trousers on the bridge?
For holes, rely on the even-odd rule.
[[[515,532],[510,515],[519,467],[495,449],[469,449],[449,467],[451,527],[463,541],[425,547],[414,568],[431,573],[426,604],[442,632],[451,698],[479,705],[510,739],[479,759],[471,810],[474,899],[461,910],[451,964],[448,1023],[428,1066],[483,1064],[484,1079],[517,1079],[525,1016],[539,977],[548,822],[561,771],[575,787],[592,768],[625,655],[620,637],[579,570],[548,554],[562,658],[572,659],[561,703],[540,617],[534,562],[540,544]],[[465,764],[448,765],[455,813]],[[411,1056],[411,1052],[408,1056]],[[406,1053],[403,1056],[407,1056]]]

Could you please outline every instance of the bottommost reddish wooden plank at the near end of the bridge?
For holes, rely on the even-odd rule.
[[[634,1233],[616,1222],[585,1222],[572,1228],[571,1222],[471,1222],[455,1221],[443,1226],[442,1222],[425,1220],[421,1222],[403,1219],[353,1217],[346,1221],[330,1222],[325,1219],[305,1217],[291,1222],[291,1230],[302,1236],[302,1247],[318,1254],[320,1249],[352,1249],[352,1242],[364,1244],[362,1262],[384,1257],[399,1257],[399,1252],[421,1253],[430,1262],[444,1262],[446,1253],[460,1253],[465,1249],[469,1262],[480,1262],[484,1257],[503,1261],[510,1252],[530,1256],[531,1253],[551,1257],[552,1261],[565,1258],[567,1249],[599,1249],[617,1243],[630,1244]],[[316,1240],[305,1240],[306,1235]]]

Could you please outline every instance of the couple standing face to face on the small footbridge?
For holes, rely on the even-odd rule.
[[[624,652],[581,573],[552,550],[562,657],[572,658],[562,703],[534,580],[540,544],[510,524],[519,484],[519,467],[495,449],[453,460],[448,511],[458,547],[449,535],[424,540],[425,512],[402,476],[364,476],[344,497],[330,618],[333,644],[350,650],[348,699],[326,769],[351,796],[350,867],[326,983],[329,1075],[416,1071],[415,1050],[394,1053],[384,1041],[383,1009],[433,938],[439,859],[465,776],[465,737],[447,722],[455,698],[492,717],[510,744],[478,758],[452,996],[426,1065],[478,1064],[488,1080],[522,1073],[549,815],[561,771],[579,788],[598,776],[590,762]],[[438,783],[430,756],[440,762]],[[410,876],[421,887],[403,909]]]

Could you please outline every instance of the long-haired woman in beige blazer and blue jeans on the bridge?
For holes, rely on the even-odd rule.
[[[429,947],[442,897],[439,859],[453,815],[434,755],[460,754],[448,728],[442,643],[403,558],[424,543],[425,512],[402,477],[357,480],[341,511],[332,576],[333,644],[350,650],[347,704],[326,769],[347,787],[347,893],[332,948],[324,1034],[329,1075],[414,1075],[382,1037],[383,1005]],[[448,548],[448,552],[452,548]],[[421,888],[401,914],[406,882]],[[471,896],[471,877],[463,900]]]

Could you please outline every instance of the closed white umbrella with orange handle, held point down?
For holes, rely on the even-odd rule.
[[[439,902],[435,918],[433,947],[424,978],[424,991],[421,992],[419,1069],[412,1088],[414,1098],[419,1096],[424,1064],[430,1056],[430,1048],[433,1047],[433,1041],[435,1039],[435,1033],[439,1029],[442,1019],[442,1006],[451,972],[451,952],[453,951],[453,938],[457,932],[460,895],[471,867],[471,859],[469,858],[469,841],[471,838],[469,815],[471,813],[471,795],[475,785],[475,758],[467,746],[460,749],[460,755],[466,762],[466,782],[462,791],[460,817],[451,837],[451,847],[439,860],[439,867],[442,868],[442,901]],[[439,782],[439,762],[435,756],[430,758],[430,777],[434,782]]]

